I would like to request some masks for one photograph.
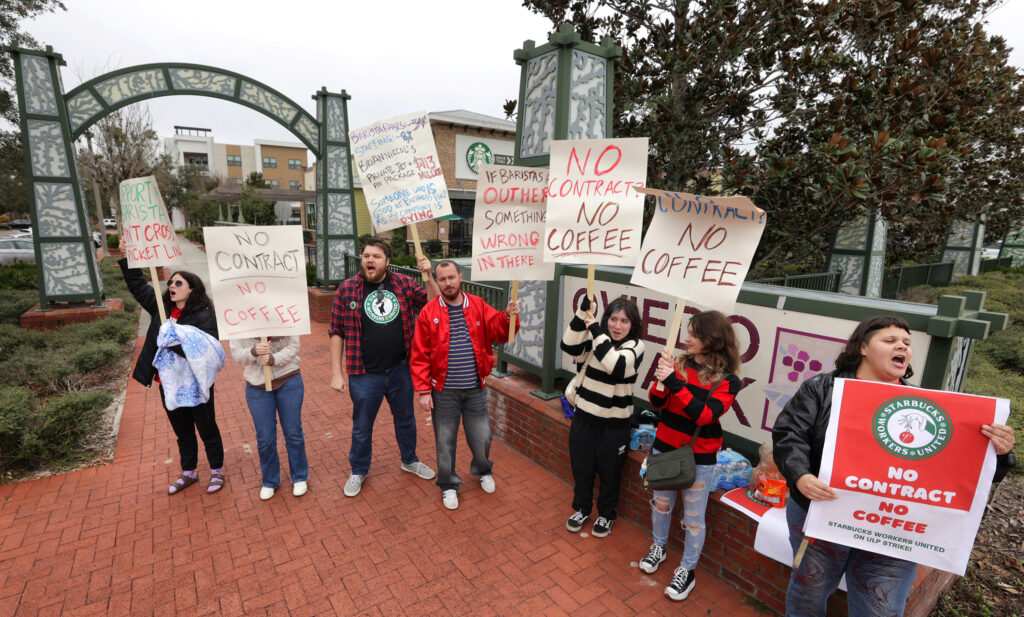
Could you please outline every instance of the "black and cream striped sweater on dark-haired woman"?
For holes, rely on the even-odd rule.
[[[643,361],[643,341],[614,343],[595,322],[588,328],[578,311],[562,336],[562,351],[585,370],[577,389],[575,408],[599,417],[633,415],[633,385]],[[586,367],[581,363],[586,359]]]

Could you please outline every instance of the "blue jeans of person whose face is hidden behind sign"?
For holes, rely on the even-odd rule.
[[[309,479],[309,462],[306,460],[306,441],[302,435],[302,398],[305,387],[302,376],[297,374],[272,392],[263,386],[246,384],[246,402],[256,427],[256,449],[259,450],[259,468],[263,475],[263,486],[281,486],[281,460],[278,458],[278,416],[281,416],[281,431],[285,434],[285,448],[288,450],[288,469],[292,483]]]

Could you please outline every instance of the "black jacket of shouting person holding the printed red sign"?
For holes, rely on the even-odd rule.
[[[790,485],[791,498],[804,509],[807,509],[808,499],[797,488],[797,480],[804,474],[816,477],[821,471],[821,451],[831,415],[833,386],[836,378],[854,377],[851,372],[823,372],[807,380],[785,404],[772,428],[772,456]],[[997,457],[995,482],[1002,480],[1010,467],[1009,454]]]

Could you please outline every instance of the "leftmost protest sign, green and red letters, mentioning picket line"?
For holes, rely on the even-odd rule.
[[[153,176],[125,180],[121,195],[121,250],[129,268],[171,266],[181,259],[181,247],[167,216],[164,197]]]

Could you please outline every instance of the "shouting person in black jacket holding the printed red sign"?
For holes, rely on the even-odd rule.
[[[794,553],[804,539],[810,501],[836,498],[831,488],[818,480],[836,379],[905,384],[912,374],[911,357],[906,321],[899,317],[865,319],[836,359],[836,370],[804,382],[782,409],[772,440],[775,461],[790,485],[785,518]],[[998,454],[995,480],[1001,480],[1010,468],[1013,429],[986,425],[981,432]],[[902,617],[915,571],[915,565],[905,560],[816,539],[807,545],[800,567],[790,577],[785,615],[824,617],[828,597],[845,574],[850,617]]]

